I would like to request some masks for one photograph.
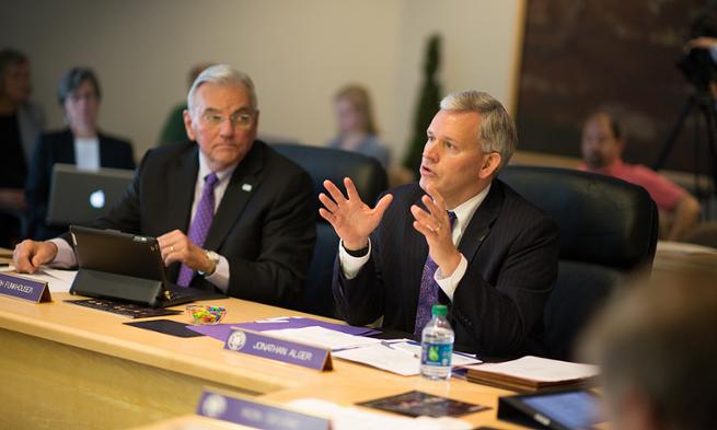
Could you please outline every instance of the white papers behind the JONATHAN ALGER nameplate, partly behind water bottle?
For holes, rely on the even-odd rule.
[[[368,364],[381,370],[414,376],[420,373],[420,345],[407,341],[383,341],[363,348],[347,349],[333,352],[335,358]],[[451,358],[453,367],[479,363],[481,360],[454,353]]]

